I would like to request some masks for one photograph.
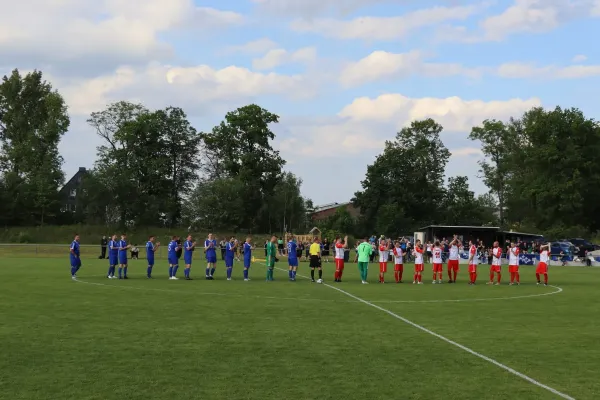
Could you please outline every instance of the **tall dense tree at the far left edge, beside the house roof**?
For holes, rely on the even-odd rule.
[[[14,70],[0,84],[0,171],[12,223],[44,224],[60,207],[58,144],[69,128],[64,99],[41,71]],[[29,213],[17,212],[28,209]]]

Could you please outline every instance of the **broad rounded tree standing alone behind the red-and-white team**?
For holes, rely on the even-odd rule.
[[[367,167],[363,190],[352,200],[366,232],[402,233],[442,218],[439,206],[450,158],[440,139],[442,129],[433,119],[412,122]],[[389,232],[392,226],[397,232]]]

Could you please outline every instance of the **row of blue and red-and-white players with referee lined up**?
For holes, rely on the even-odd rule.
[[[146,243],[146,258],[148,262],[148,268],[146,276],[152,279],[152,270],[154,267],[154,254],[160,246],[160,243],[156,242],[154,236],[148,238]],[[75,235],[70,248],[70,261],[71,261],[71,277],[76,279],[77,272],[81,268],[81,258],[79,249],[79,235]],[[185,263],[184,277],[186,280],[191,280],[191,267],[193,254],[196,250],[197,242],[193,241],[192,236],[188,235],[186,241],[180,244],[180,237],[173,236],[168,244],[168,264],[169,264],[169,279],[178,280],[177,272],[179,269],[179,257],[178,252],[183,250],[183,257]],[[277,260],[277,237],[272,236],[271,240],[266,245],[266,280],[272,281],[273,271],[275,269],[275,263]],[[447,270],[448,270],[448,283],[456,283],[457,274],[459,271],[459,247],[462,244],[456,238],[453,238],[450,243],[450,253],[448,257]],[[117,240],[117,236],[113,235],[109,242],[109,268],[108,268],[108,279],[129,279],[127,276],[128,272],[128,260],[127,250],[131,248],[131,245],[127,243],[127,236],[121,235],[121,240]],[[253,262],[252,251],[255,247],[252,245],[252,239],[246,238],[246,241],[240,245],[235,239],[230,239],[225,249],[225,267],[227,271],[227,280],[231,280],[233,264],[237,249],[240,248],[244,255],[244,280],[249,281],[249,269]],[[348,248],[348,238],[336,238],[335,241],[335,273],[334,281],[341,282],[344,273],[344,253]],[[216,270],[217,263],[217,241],[213,238],[212,234],[208,235],[208,238],[204,241],[204,254],[206,259],[206,270],[205,279],[213,280]],[[369,260],[375,247],[365,239],[360,243],[357,248],[358,258],[358,270],[361,276],[361,282],[368,284],[367,274],[369,267]],[[298,256],[297,256],[297,243],[294,237],[287,244],[288,250],[288,267],[289,267],[289,279],[290,281],[296,280],[296,272],[298,269]],[[393,242],[392,240],[381,240],[378,246],[379,250],[379,282],[385,283],[385,274],[387,273],[388,260],[390,255],[394,261],[394,278],[396,283],[402,283],[402,277],[404,273],[404,257],[405,251],[401,247],[400,241]],[[510,273],[510,285],[520,284],[519,274],[519,248],[515,243],[511,243],[509,251],[509,273]],[[540,262],[536,268],[536,279],[538,284],[542,284],[541,277],[543,276],[544,285],[548,285],[548,261],[549,261],[549,245],[542,245],[540,248]],[[323,269],[321,261],[322,247],[319,243],[318,238],[314,238],[313,243],[309,248],[310,255],[310,271],[311,280],[313,282],[323,282]],[[424,272],[423,263],[423,244],[420,240],[415,242],[414,250],[412,255],[415,259],[413,284],[422,284],[422,274]],[[490,267],[490,280],[488,284],[500,285],[502,273],[502,248],[498,242],[494,243],[492,251],[492,265]],[[443,276],[443,260],[442,260],[442,248],[440,247],[439,241],[436,241],[433,248],[431,249],[431,257],[433,261],[433,280],[432,283],[442,283]],[[477,266],[479,264],[477,248],[472,241],[469,242],[469,285],[474,285],[477,281]],[[118,276],[115,276],[115,272],[118,266]],[[318,280],[315,281],[315,270],[318,272]],[[496,278],[496,279],[494,279]]]

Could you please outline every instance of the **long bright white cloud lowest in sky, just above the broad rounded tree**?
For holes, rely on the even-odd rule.
[[[486,118],[508,119],[539,105],[541,101],[537,98],[483,101],[456,96],[413,99],[401,94],[384,94],[377,98],[357,98],[338,115],[354,122],[390,121],[398,128],[414,120],[433,118],[446,131],[466,132]]]

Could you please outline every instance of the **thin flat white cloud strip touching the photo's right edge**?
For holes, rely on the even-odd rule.
[[[506,63],[498,67],[497,73],[503,78],[536,79],[579,79],[600,76],[600,65],[569,65],[566,67],[538,67],[526,63]]]

